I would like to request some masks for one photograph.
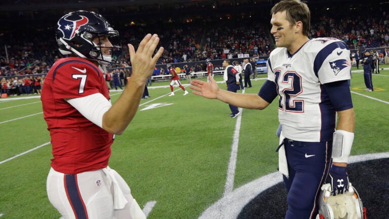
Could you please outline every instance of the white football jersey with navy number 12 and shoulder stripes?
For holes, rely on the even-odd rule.
[[[277,84],[279,121],[286,138],[332,139],[336,112],[322,84],[350,79],[350,51],[340,40],[317,38],[290,55],[276,48],[267,61],[268,80]]]

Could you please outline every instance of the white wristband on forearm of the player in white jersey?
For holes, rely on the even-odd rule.
[[[347,163],[353,146],[354,133],[336,130],[332,141],[332,161],[338,163]]]

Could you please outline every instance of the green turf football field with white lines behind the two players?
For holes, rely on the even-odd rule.
[[[246,93],[258,93],[266,76],[258,78]],[[198,218],[219,200],[234,134],[239,143],[231,189],[277,171],[278,101],[263,111],[243,109],[231,119],[227,104],[193,95],[188,87],[186,96],[178,87],[175,96],[167,96],[168,83],[149,87],[151,97],[141,100],[132,123],[116,136],[109,162],[141,208],[146,206],[148,218]],[[362,71],[353,72],[351,83],[356,112],[352,155],[389,152],[389,70],[373,75],[374,92],[364,91]],[[219,87],[226,89],[223,83]],[[111,92],[112,102],[120,95]],[[0,219],[58,219],[46,194],[52,155],[40,98],[2,98],[0,115]]]

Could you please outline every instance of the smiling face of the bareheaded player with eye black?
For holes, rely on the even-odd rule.
[[[270,24],[270,33],[274,36],[276,46],[288,49],[294,41],[295,32],[293,27],[295,25],[290,25],[289,21],[286,20],[286,11],[271,15]]]

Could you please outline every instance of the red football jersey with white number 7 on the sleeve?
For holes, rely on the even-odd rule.
[[[41,100],[51,136],[54,170],[76,174],[108,165],[113,134],[86,119],[64,100],[95,93],[110,99],[104,76],[92,62],[62,58],[50,68]]]

